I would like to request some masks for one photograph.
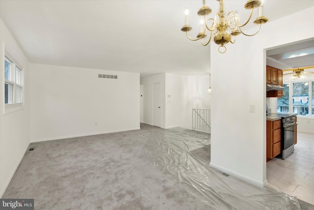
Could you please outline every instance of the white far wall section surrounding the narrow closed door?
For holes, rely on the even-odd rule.
[[[165,128],[165,74],[157,74],[150,77],[141,78],[140,84],[143,87],[143,112],[142,123],[153,125],[153,84],[160,83],[161,87],[161,128]]]

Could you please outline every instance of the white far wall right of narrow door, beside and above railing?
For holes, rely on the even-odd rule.
[[[192,109],[210,110],[208,88],[209,75],[166,73],[166,128],[192,129]]]

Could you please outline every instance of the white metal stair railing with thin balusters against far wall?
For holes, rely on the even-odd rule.
[[[210,133],[210,110],[192,109],[192,130]]]

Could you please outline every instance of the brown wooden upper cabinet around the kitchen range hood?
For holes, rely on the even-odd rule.
[[[283,70],[266,66],[266,84],[283,86]],[[270,90],[266,92],[266,97],[283,97],[283,90]]]

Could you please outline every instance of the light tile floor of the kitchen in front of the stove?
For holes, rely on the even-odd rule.
[[[314,205],[314,134],[297,134],[294,152],[267,162],[268,186]]]

